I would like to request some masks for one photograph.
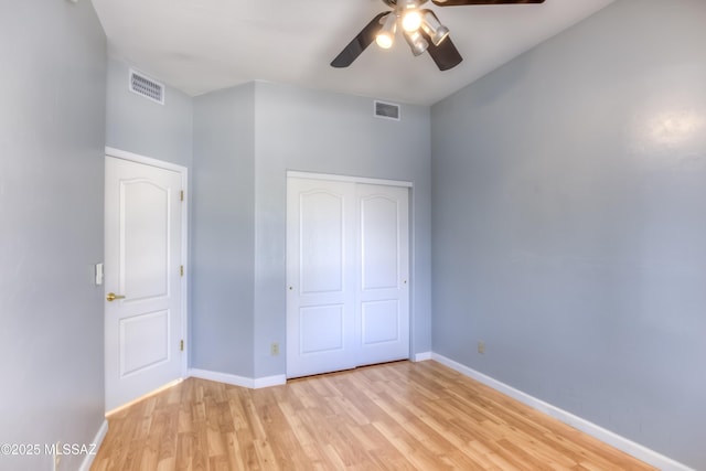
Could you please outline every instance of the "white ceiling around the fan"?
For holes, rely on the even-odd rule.
[[[195,96],[252,81],[434,104],[613,0],[439,8],[463,62],[440,72],[399,35],[347,68],[329,64],[381,0],[92,0],[111,54]]]

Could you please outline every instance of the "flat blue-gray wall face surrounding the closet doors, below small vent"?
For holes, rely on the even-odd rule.
[[[255,377],[286,372],[287,170],[414,183],[413,351],[430,351],[429,108],[402,106],[402,121],[373,117],[373,100],[256,83]]]

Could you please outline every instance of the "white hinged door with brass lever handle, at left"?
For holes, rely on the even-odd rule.
[[[106,410],[113,410],[182,375],[182,175],[106,157],[105,186]]]

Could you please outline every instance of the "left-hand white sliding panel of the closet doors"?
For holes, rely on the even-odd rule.
[[[287,376],[356,366],[355,185],[289,178]]]

